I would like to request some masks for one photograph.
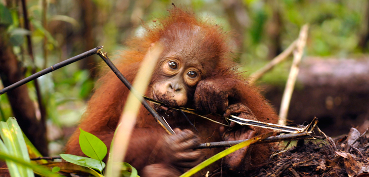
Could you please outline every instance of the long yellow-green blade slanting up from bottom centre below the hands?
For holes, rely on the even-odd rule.
[[[209,159],[206,159],[205,161],[201,162],[200,164],[196,165],[195,167],[191,168],[190,170],[188,170],[187,172],[183,173],[182,175],[180,175],[179,177],[190,177],[193,174],[195,174],[196,172],[200,171],[201,169],[205,168],[206,166],[212,164],[213,162],[225,157],[226,155],[233,153],[241,148],[244,148],[246,146],[249,146],[251,144],[254,144],[260,140],[264,140],[268,137],[270,137],[273,134],[273,132],[268,132],[266,134],[263,135],[259,135],[257,137],[254,137],[252,139],[249,139],[247,141],[241,142],[235,146],[232,146],[222,152],[219,152],[218,154],[215,154],[214,156],[210,157]]]

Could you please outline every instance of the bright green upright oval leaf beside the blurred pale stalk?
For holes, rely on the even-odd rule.
[[[83,131],[81,128],[79,128],[79,130],[81,131],[79,134],[79,146],[82,152],[88,157],[103,161],[108,152],[108,148],[104,142],[95,135]]]

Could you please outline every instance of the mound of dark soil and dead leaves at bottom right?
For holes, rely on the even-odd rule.
[[[290,149],[275,152],[250,176],[369,176],[368,155],[369,139],[351,128],[348,135],[332,141],[300,140]]]

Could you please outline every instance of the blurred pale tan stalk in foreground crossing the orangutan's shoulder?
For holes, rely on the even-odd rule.
[[[139,114],[141,104],[147,104],[147,102],[142,98],[141,94],[146,93],[147,87],[151,80],[151,76],[155,69],[154,66],[162,51],[163,47],[160,43],[155,43],[151,45],[145,57],[143,58],[141,67],[137,71],[137,74],[134,78],[134,84],[131,87],[131,92],[127,97],[123,112],[121,113],[119,118],[118,126],[114,132],[114,137],[109,152],[109,156],[111,158],[109,158],[106,167],[107,177],[118,177],[120,174],[121,165],[116,164],[116,162],[124,161],[124,157],[127,153],[129,145],[129,140],[135,127],[136,118]],[[100,51],[98,55],[105,62],[107,62],[107,64],[110,64],[109,67],[115,70],[114,73],[117,73],[117,68],[114,65],[111,65],[112,63],[106,57],[106,53],[102,53]],[[134,91],[133,87],[135,87]],[[149,108],[151,107],[149,106]]]

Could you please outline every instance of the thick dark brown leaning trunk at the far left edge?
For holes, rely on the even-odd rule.
[[[23,69],[13,53],[6,28],[0,26],[0,77],[4,86],[9,86],[24,78]],[[35,107],[29,98],[26,85],[10,91],[8,94],[13,115],[24,134],[42,155],[48,155],[46,129],[37,120]]]

